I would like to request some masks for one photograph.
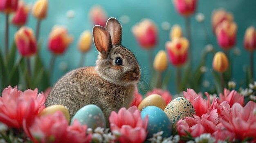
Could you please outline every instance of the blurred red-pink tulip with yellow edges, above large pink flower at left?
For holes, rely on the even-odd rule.
[[[15,33],[14,40],[23,57],[30,57],[36,53],[36,38],[31,28],[22,26]]]

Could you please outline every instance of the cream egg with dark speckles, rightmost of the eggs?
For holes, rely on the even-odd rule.
[[[193,117],[193,115],[195,115],[195,109],[192,103],[184,97],[173,99],[173,101],[168,103],[164,112],[167,114],[174,127],[180,119]]]

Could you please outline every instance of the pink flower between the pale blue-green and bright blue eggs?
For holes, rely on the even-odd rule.
[[[118,131],[121,143],[142,143],[147,136],[148,116],[141,119],[141,114],[136,106],[121,108],[118,113],[112,111],[109,117],[111,131]]]

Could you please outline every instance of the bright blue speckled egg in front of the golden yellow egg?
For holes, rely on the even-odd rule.
[[[165,112],[156,107],[148,106],[141,111],[141,118],[148,115],[148,135],[147,138],[153,137],[153,134],[163,131],[163,137],[170,137],[172,134],[172,124]]]

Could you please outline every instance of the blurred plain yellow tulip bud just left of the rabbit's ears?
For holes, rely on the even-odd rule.
[[[83,31],[77,46],[82,53],[86,53],[90,50],[92,46],[92,33],[89,30]]]

